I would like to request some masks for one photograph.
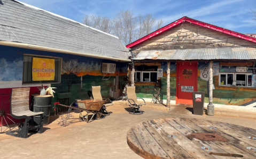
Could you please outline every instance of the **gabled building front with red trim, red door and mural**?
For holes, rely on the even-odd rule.
[[[256,39],[251,36],[183,17],[126,47],[133,54],[130,80],[139,97],[151,98],[160,79],[167,104],[191,105],[191,92],[204,91],[206,105],[256,110]]]

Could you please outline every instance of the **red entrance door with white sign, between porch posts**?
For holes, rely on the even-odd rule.
[[[176,65],[176,104],[192,105],[192,91],[197,91],[197,62]]]

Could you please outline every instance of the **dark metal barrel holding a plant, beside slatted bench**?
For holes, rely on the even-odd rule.
[[[51,110],[51,95],[37,95],[34,96],[33,112],[44,112],[46,115],[43,121],[43,125],[49,124],[50,110]],[[34,122],[36,124],[40,123],[40,115],[34,116]]]

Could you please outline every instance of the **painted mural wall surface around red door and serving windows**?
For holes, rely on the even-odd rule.
[[[160,93],[163,95],[163,99],[166,99],[166,70],[167,63],[163,62],[161,68],[164,69],[164,77],[161,78],[162,88]],[[235,67],[225,67],[222,66],[219,72],[233,71]],[[249,70],[250,72],[250,70]],[[216,75],[216,74],[215,74]],[[198,62],[198,91],[205,92],[205,103],[208,103],[208,62]],[[216,76],[213,77],[213,83],[215,83]],[[158,88],[157,88],[158,90]],[[255,90],[256,91],[256,90]],[[255,91],[245,91],[237,87],[236,90],[224,90],[224,89],[214,89],[213,90],[213,103],[224,104],[224,105],[241,105],[246,106],[256,102]],[[151,98],[152,94],[155,92],[154,86],[136,86],[136,94],[141,98]],[[170,99],[175,100],[176,96],[176,64],[172,62],[170,64]],[[256,104],[255,104],[256,105]]]

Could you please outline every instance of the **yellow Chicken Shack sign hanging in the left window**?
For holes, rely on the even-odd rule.
[[[50,81],[55,78],[55,60],[49,58],[33,57],[32,62],[33,81]]]

